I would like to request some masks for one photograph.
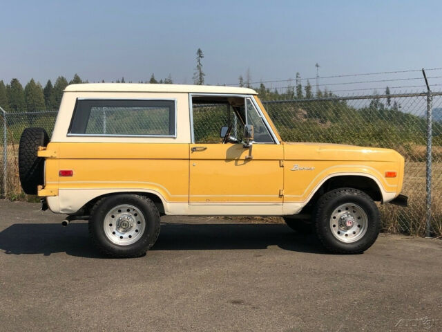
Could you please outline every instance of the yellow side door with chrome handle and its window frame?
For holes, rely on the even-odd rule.
[[[193,99],[195,142],[189,147],[189,204],[249,205],[250,208],[245,209],[244,214],[260,214],[253,213],[253,205],[270,205],[274,213],[269,214],[278,214],[279,210],[282,212],[282,145],[268,142],[270,136],[266,136],[264,131],[269,129],[259,117],[256,106],[249,98],[241,99],[236,98],[222,106],[204,106],[203,102],[197,103],[198,100]],[[243,142],[240,142],[244,130],[244,116],[240,116],[241,102],[244,107],[249,107],[249,113],[255,112],[252,114],[255,121],[262,122],[258,126],[254,124],[254,127],[258,137],[267,140],[253,142],[251,149],[245,148]],[[248,122],[251,120],[249,117]],[[260,128],[260,125],[264,127]],[[232,127],[232,138],[225,143],[220,139],[223,126]],[[206,211],[211,214],[209,210]]]

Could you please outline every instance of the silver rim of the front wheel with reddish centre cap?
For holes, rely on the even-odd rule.
[[[345,243],[356,242],[367,232],[368,217],[359,205],[345,203],[330,216],[330,229],[336,239]]]

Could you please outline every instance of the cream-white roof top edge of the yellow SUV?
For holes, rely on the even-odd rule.
[[[215,85],[185,84],[133,84],[133,83],[86,83],[70,84],[65,92],[184,92],[184,93],[228,93],[256,95],[256,91],[247,88]]]

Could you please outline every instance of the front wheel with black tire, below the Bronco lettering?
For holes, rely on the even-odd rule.
[[[355,205],[357,207],[356,210],[365,213],[366,221],[363,222],[365,233],[361,232],[361,234],[358,234],[358,229],[355,228],[360,227],[358,223],[362,224],[361,220],[358,221],[361,217],[357,216],[358,214],[355,214],[357,218],[354,218],[354,216],[349,214],[348,222],[349,224],[352,224],[352,228],[350,230],[344,230],[341,232],[341,235],[337,235],[337,230],[339,230],[339,228],[335,229],[334,227],[340,227],[340,225],[336,224],[336,221],[334,220],[336,219],[335,213],[340,212],[340,210],[336,209],[340,206],[345,206],[346,204]],[[346,208],[346,210],[348,209]],[[352,210],[352,208],[350,208],[350,210]],[[349,211],[349,213],[356,212],[356,210]],[[343,211],[340,213],[347,212]],[[335,219],[333,219],[334,216]],[[347,216],[343,216],[344,223],[347,222],[346,218]],[[338,217],[336,220],[339,221],[339,219],[340,218]],[[381,230],[381,217],[378,207],[372,198],[365,194],[365,192],[361,192],[361,190],[356,190],[354,188],[339,188],[327,192],[320,197],[314,209],[314,224],[318,238],[327,250],[338,254],[358,254],[367,250],[372,246],[374,241],[376,241],[379,231]],[[344,225],[344,227],[346,226],[347,225]],[[334,234],[332,228],[336,230],[336,234]],[[350,236],[355,237],[354,242],[345,242],[345,237],[347,237],[346,232],[348,232]],[[355,232],[356,235],[353,235]],[[345,237],[343,235],[345,235]],[[360,236],[360,238],[358,238],[358,236]],[[341,241],[338,237],[343,240]],[[349,241],[352,240],[349,239]]]

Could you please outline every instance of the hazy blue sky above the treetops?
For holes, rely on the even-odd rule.
[[[190,84],[198,47],[207,84],[442,67],[442,1],[2,2],[6,82]]]

